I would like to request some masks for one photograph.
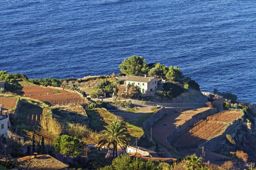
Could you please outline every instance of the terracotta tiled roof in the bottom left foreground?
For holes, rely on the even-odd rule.
[[[38,155],[35,158],[33,156],[25,156],[18,159],[20,167],[27,170],[65,170],[68,165],[53,158],[52,156]]]

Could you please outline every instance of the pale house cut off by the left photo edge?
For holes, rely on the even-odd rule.
[[[8,109],[2,108],[0,105],[0,137],[8,139]]]

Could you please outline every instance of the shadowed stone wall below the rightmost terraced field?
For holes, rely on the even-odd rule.
[[[215,138],[210,139],[209,141],[205,142],[204,144],[199,145],[200,147],[205,147],[207,150],[214,151],[221,147],[222,144],[226,142],[226,134],[231,135],[234,137],[234,133],[236,133],[236,130],[241,128],[243,125],[243,122],[241,119],[238,119],[236,122],[234,122],[232,125],[230,125],[227,130],[220,136],[217,136]]]

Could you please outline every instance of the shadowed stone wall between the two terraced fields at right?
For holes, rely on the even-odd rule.
[[[203,111],[201,113],[197,113],[194,116],[192,116],[191,119],[183,123],[180,127],[177,127],[175,130],[172,131],[172,133],[169,133],[166,140],[169,144],[172,143],[172,141],[179,136],[181,133],[183,133],[185,130],[187,130],[189,127],[194,125],[196,122],[198,122],[200,119],[205,119],[207,116],[211,116],[215,113],[218,113],[217,108],[210,108],[207,111]]]

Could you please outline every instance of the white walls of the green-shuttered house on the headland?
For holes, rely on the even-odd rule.
[[[150,92],[151,89],[152,89],[152,91],[156,91],[157,90],[157,78],[151,79],[150,82],[126,81],[125,85],[127,86],[128,84],[134,84],[134,85],[139,86],[141,93]]]

